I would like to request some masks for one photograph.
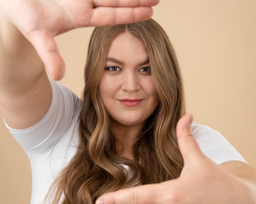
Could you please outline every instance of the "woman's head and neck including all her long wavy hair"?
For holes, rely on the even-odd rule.
[[[62,173],[59,191],[77,194],[81,200],[74,203],[89,203],[135,183],[177,178],[183,161],[175,127],[185,108],[177,59],[162,28],[154,20],[98,27],[87,59],[83,143]],[[126,171],[133,172],[129,179]],[[74,182],[84,186],[81,194]]]

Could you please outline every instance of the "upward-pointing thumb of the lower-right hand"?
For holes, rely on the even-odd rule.
[[[180,118],[176,127],[177,141],[184,159],[184,166],[194,164],[203,155],[191,131],[192,121],[193,116],[186,114]]]

